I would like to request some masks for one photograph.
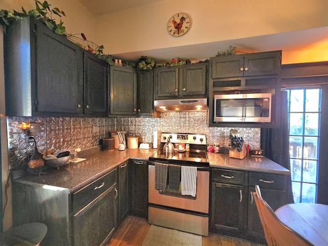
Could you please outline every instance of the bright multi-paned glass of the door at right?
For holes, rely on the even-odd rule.
[[[321,89],[288,91],[290,165],[295,202],[317,200]]]

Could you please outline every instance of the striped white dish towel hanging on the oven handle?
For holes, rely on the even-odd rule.
[[[197,167],[181,166],[181,195],[196,196]]]

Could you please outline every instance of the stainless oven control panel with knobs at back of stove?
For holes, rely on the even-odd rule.
[[[163,132],[160,136],[160,142],[167,142],[168,138],[173,144],[206,145],[206,135],[204,134]]]

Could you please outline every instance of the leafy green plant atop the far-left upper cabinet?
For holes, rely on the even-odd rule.
[[[57,15],[61,17],[62,15],[66,16],[65,12],[63,10],[59,10],[58,8],[50,8],[50,4],[47,1],[44,1],[43,3],[37,0],[35,1],[35,9],[32,9],[30,11],[26,11],[22,7],[22,12],[17,12],[13,10],[13,13],[9,10],[2,9],[0,11],[0,23],[4,26],[4,30],[6,30],[6,26],[10,25],[12,22],[14,22],[17,19],[25,18],[28,16],[32,16],[36,19],[41,20],[42,22],[47,25],[48,28],[52,29],[54,32],[64,35],[65,34],[65,27],[63,26],[63,22],[60,19],[59,24],[56,24],[55,19],[53,19],[52,15]]]

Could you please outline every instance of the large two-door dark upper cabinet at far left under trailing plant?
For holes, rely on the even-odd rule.
[[[4,59],[6,115],[107,115],[108,65],[42,22],[8,26]]]

